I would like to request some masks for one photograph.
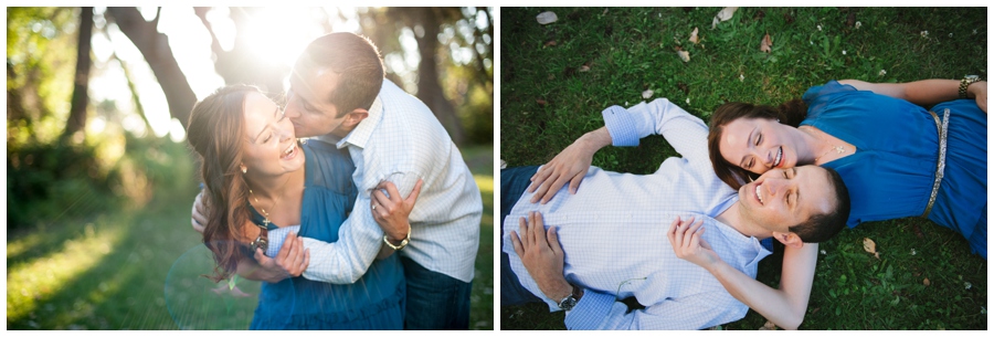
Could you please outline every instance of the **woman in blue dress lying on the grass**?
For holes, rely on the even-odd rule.
[[[986,260],[987,83],[977,80],[829,81],[775,108],[727,103],[711,117],[711,165],[732,188],[771,168],[834,168],[850,228],[928,218]]]

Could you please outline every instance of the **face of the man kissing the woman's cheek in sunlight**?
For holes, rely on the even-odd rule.
[[[328,102],[338,84],[339,75],[330,70],[311,71],[295,66],[287,93],[286,116],[294,124],[297,137],[315,137],[334,133],[345,137],[352,127],[343,126],[348,114],[339,117],[338,108]]]

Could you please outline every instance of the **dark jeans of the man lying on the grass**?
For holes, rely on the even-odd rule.
[[[525,189],[531,185],[531,176],[538,171],[538,166],[515,167],[500,170],[500,229],[497,231],[500,238],[500,305],[521,305],[531,302],[542,302],[541,298],[531,294],[521,282],[518,275],[510,268],[510,260],[504,252],[504,218],[510,213],[510,210],[525,193]],[[515,225],[517,222],[514,223]],[[409,295],[410,296],[410,295]]]

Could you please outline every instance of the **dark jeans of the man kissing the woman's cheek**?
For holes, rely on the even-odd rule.
[[[469,291],[473,282],[466,283],[429,271],[406,256],[401,256],[401,263],[408,280],[404,329],[469,329]]]

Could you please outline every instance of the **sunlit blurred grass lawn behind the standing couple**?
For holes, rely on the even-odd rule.
[[[145,150],[133,154],[147,157]],[[84,192],[64,198],[75,202],[63,208],[81,215],[53,214],[8,233],[8,329],[181,328],[177,322],[195,329],[248,327],[258,283],[237,282],[245,296],[199,277],[211,264],[190,228],[199,181],[190,150],[165,140],[156,151],[150,157],[161,166],[142,165],[150,168],[148,202],[86,212],[101,200]],[[463,154],[485,203],[469,327],[493,329],[494,152],[484,146]]]

